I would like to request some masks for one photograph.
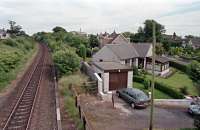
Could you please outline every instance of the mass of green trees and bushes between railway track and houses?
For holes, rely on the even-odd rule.
[[[98,43],[97,37],[91,35],[87,38],[67,32],[62,27],[55,27],[52,30],[52,33],[38,32],[33,37],[49,46],[59,75],[69,75],[79,69],[81,59],[91,57],[93,48]]]

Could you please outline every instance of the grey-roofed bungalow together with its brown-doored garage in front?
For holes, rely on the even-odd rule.
[[[133,66],[152,70],[152,44],[127,43],[107,44],[92,57],[92,67],[98,78],[100,93],[132,86]],[[155,58],[155,73],[166,75],[169,72],[169,59]]]

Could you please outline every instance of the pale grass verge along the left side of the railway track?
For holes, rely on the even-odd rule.
[[[10,50],[12,48],[6,46],[6,49]],[[15,69],[12,69],[4,75],[6,77],[6,80],[0,82],[0,93],[3,92],[6,88],[8,88],[11,81],[15,80],[18,74],[23,73],[26,70],[28,64],[32,62],[33,58],[37,54],[37,50],[38,46],[34,45],[34,48],[28,54],[21,57],[20,63],[15,67]]]

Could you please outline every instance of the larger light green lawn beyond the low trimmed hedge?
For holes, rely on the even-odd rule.
[[[151,79],[151,75],[147,75],[147,78]],[[167,84],[176,89],[177,91],[180,91],[180,88],[187,87],[189,95],[198,95],[198,91],[194,86],[190,77],[181,71],[177,71],[171,77],[166,79],[161,77],[156,77],[156,81]]]

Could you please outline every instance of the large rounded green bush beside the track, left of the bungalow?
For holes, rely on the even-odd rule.
[[[69,75],[77,71],[80,67],[80,58],[78,55],[68,49],[56,51],[53,54],[53,60],[60,75]]]

